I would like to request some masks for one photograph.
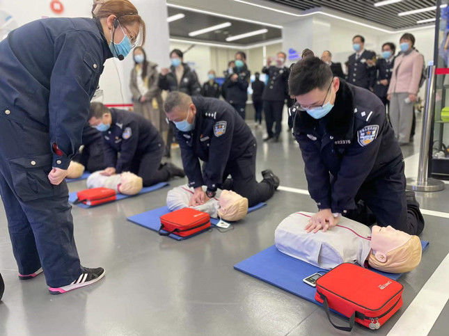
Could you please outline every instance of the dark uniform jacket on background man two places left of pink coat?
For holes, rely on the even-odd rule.
[[[347,81],[361,88],[372,88],[375,84],[376,67],[369,66],[367,60],[375,58],[373,51],[363,50],[363,53],[356,59],[356,53],[349,56],[349,67]]]

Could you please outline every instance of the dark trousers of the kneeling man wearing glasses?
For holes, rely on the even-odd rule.
[[[420,234],[424,221],[411,209],[414,205],[407,204],[405,186],[404,161],[400,161],[383,177],[364,183],[356,202],[363,201],[365,207],[359,203],[359,209],[350,210],[344,216],[366,225],[377,222],[379,226],[391,225],[408,234]]]

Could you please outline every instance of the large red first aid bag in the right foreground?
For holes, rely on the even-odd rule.
[[[351,331],[354,321],[372,330],[379,329],[402,307],[404,287],[397,281],[355,264],[340,264],[316,282],[315,300],[322,303],[329,322]],[[331,321],[329,309],[349,317],[349,327]]]

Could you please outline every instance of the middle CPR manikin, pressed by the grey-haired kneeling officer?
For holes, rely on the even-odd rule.
[[[205,186],[203,186],[205,190]],[[167,193],[167,207],[170,211],[189,207],[191,195],[194,189],[189,186],[178,186]],[[248,199],[235,193],[234,191],[217,191],[214,198],[211,198],[203,205],[192,207],[198,211],[210,214],[212,218],[223,218],[225,221],[239,221],[248,213]]]

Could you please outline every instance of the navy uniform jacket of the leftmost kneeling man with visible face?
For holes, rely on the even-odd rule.
[[[150,120],[134,112],[118,109],[110,111],[112,125],[102,132],[104,163],[107,167],[115,167],[118,174],[129,171],[133,161],[162,148],[164,140]]]

